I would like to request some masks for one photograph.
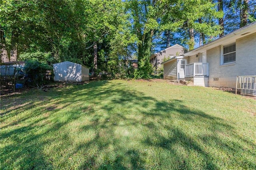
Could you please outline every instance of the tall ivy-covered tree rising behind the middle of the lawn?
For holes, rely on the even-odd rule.
[[[129,1],[129,9],[132,14],[133,31],[137,35],[138,42],[138,69],[135,78],[148,78],[152,68],[149,61],[152,47],[152,37],[158,28],[158,2]]]

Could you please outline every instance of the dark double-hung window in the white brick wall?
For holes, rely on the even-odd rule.
[[[236,61],[236,44],[223,46],[223,64]]]

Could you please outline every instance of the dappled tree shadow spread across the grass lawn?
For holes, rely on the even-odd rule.
[[[8,116],[18,120],[2,126],[1,140],[8,143],[1,146],[2,168],[256,166],[255,160],[250,160],[256,156],[250,150],[256,148],[254,143],[236,134],[231,123],[186,107],[182,100],[161,101],[125,83],[108,81],[52,93],[46,95],[48,101],[30,103],[22,110],[34,113]],[[3,114],[5,121],[8,114]],[[238,159],[238,155],[246,156]]]

